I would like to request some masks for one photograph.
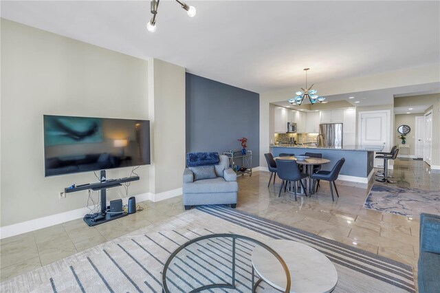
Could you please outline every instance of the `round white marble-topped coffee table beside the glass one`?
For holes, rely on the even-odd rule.
[[[265,241],[278,252],[289,268],[291,286],[289,292],[331,292],[338,283],[338,272],[331,261],[315,248],[290,240]],[[252,266],[261,277],[254,285],[265,281],[277,290],[285,290],[283,267],[272,254],[256,246],[252,252]]]

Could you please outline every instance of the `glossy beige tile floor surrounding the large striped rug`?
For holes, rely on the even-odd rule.
[[[393,171],[397,186],[440,189],[440,173],[431,172],[421,161],[396,160]],[[331,201],[323,182],[312,197],[281,193],[281,184],[267,188],[269,173],[239,177],[237,209],[281,222],[322,237],[340,241],[415,267],[419,254],[419,221],[363,208],[369,186],[338,182],[340,197]],[[63,259],[105,241],[120,237],[156,221],[184,213],[181,196],[162,202],[141,202],[142,212],[107,224],[88,227],[83,219],[28,232],[1,240],[1,281],[42,265]]]

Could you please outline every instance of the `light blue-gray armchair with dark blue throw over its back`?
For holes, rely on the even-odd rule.
[[[214,177],[202,180],[197,180],[195,173],[185,169],[183,191],[186,210],[203,204],[230,204],[232,208],[236,207],[239,184],[236,182],[236,173],[228,164],[228,157],[219,155],[219,163],[214,165]]]

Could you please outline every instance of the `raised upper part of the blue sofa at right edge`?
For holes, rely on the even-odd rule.
[[[420,252],[440,254],[440,215],[420,215]]]

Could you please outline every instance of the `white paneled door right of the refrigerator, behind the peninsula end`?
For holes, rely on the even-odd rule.
[[[366,111],[359,113],[360,146],[384,146],[382,151],[390,151],[390,112]],[[375,159],[374,166],[384,164],[384,160]]]

